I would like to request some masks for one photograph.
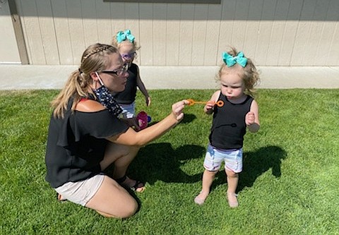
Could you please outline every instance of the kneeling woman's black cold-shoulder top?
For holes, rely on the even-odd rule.
[[[46,181],[53,188],[100,174],[100,162],[109,142],[106,138],[129,128],[108,109],[98,112],[71,111],[69,102],[64,119],[51,116],[45,162]]]

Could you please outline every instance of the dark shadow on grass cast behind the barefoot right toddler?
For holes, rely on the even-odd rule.
[[[278,146],[261,147],[256,152],[244,152],[243,171],[239,175],[237,191],[242,191],[245,187],[251,187],[254,181],[269,169],[276,178],[281,176],[280,165],[287,156],[285,150]],[[219,171],[215,176],[215,181],[211,190],[216,186],[226,182],[225,171]]]

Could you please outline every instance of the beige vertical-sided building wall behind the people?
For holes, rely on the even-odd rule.
[[[338,0],[15,1],[30,64],[79,64],[90,44],[128,28],[141,66],[215,66],[230,45],[258,66],[339,66]]]

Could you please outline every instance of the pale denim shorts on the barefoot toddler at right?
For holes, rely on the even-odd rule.
[[[239,150],[220,150],[208,145],[203,167],[208,171],[218,171],[222,161],[225,162],[225,169],[239,173],[242,171],[242,148]]]

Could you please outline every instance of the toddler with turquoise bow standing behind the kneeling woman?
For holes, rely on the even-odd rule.
[[[140,78],[139,67],[133,63],[136,51],[139,47],[136,44],[135,37],[131,34],[131,30],[117,32],[117,35],[114,35],[113,37],[112,45],[117,47],[121,55],[121,59],[129,66],[129,78],[127,79],[125,90],[119,93],[113,93],[113,96],[123,109],[123,116],[127,119],[131,119],[135,116],[137,87],[145,96],[146,105],[150,105],[150,96],[148,95],[145,85]]]

